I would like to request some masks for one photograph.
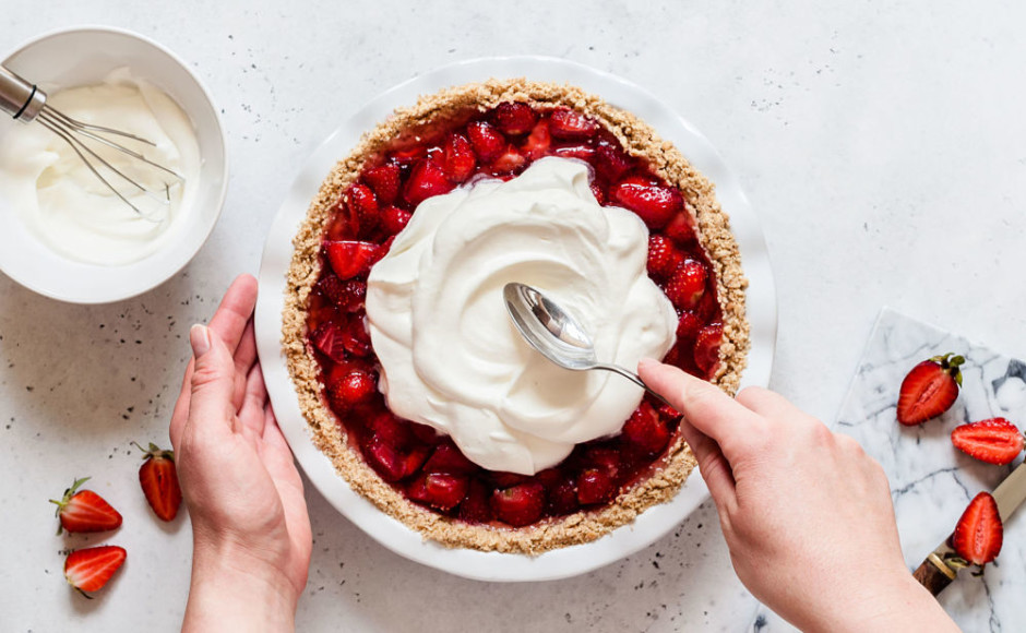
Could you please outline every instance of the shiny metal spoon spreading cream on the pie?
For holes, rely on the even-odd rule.
[[[537,289],[514,282],[502,288],[502,297],[505,299],[505,308],[513,325],[541,356],[574,371],[603,369],[619,373],[661,402],[673,406],[652,391],[633,371],[619,365],[598,362],[595,358],[595,345],[588,333],[565,310]]]

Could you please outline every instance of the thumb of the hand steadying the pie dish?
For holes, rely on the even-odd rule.
[[[217,333],[204,325],[193,325],[189,343],[195,358],[192,372],[190,421],[206,426],[216,420],[228,422],[235,393],[235,361]]]

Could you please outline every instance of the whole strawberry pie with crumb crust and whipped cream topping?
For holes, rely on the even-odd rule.
[[[369,131],[295,240],[284,347],[319,446],[379,509],[450,547],[583,544],[671,499],[680,415],[521,339],[535,286],[599,358],[661,358],[733,393],[745,279],[713,186],[629,112],[524,80],[450,88]]]

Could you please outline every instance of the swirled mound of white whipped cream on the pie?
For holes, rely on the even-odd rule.
[[[632,368],[661,358],[677,326],[646,274],[647,246],[637,216],[598,205],[576,160],[542,158],[506,182],[426,200],[368,279],[389,408],[485,468],[524,475],[618,433],[641,387],[546,360],[514,329],[502,288],[540,289],[580,320],[599,359]]]

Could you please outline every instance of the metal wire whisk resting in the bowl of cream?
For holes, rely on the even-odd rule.
[[[86,144],[87,141],[94,141],[96,143],[100,143],[117,150],[118,152],[122,152],[132,158],[150,165],[151,167],[159,169],[180,183],[184,183],[186,181],[186,178],[176,171],[168,169],[163,165],[158,165],[139,152],[130,150],[129,147],[111,141],[110,139],[104,138],[102,134],[122,136],[124,139],[131,139],[151,146],[156,146],[152,141],[147,141],[146,139],[142,139],[135,134],[130,134],[121,130],[104,128],[102,126],[92,126],[90,123],[84,123],[82,121],[72,119],[71,117],[62,114],[60,110],[51,108],[46,103],[45,92],[39,89],[36,85],[31,84],[22,77],[17,76],[3,65],[0,65],[0,110],[12,115],[17,121],[24,121],[25,123],[38,121],[41,126],[63,139],[68,145],[74,150],[75,154],[79,155],[79,158],[85,163],[85,166],[90,168],[90,171],[92,171],[96,178],[100,180],[100,182],[103,182],[110,191],[112,191],[115,195],[121,199],[124,204],[131,206],[135,213],[143,217],[148,218],[150,214],[144,213],[139,208],[139,206],[133,204],[132,201],[126,198],[117,187],[111,184],[110,180],[100,174],[100,169],[106,169],[111,175],[118,176],[134,189],[145,193],[147,196],[165,206],[170,204],[171,183],[165,182],[164,190],[160,192],[151,191],[111,165],[103,156],[97,154]]]

